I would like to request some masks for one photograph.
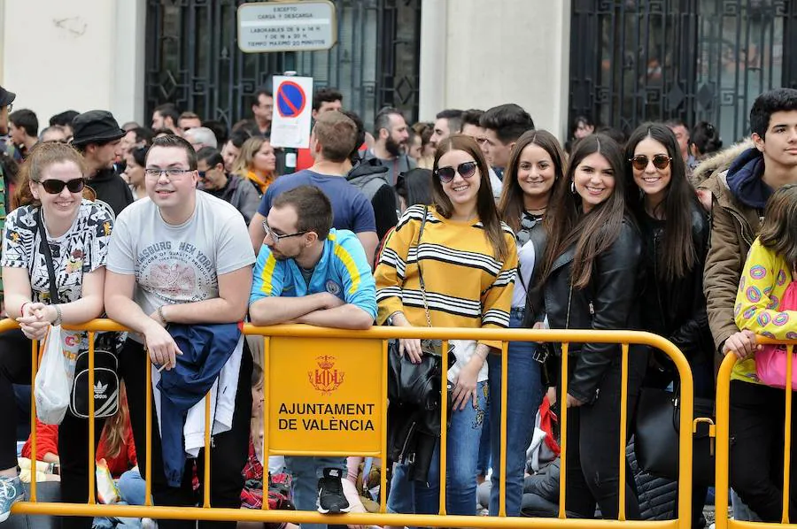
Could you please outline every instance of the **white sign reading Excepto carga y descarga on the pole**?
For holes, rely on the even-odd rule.
[[[335,4],[329,0],[238,6],[238,48],[244,53],[329,50],[335,42]]]

